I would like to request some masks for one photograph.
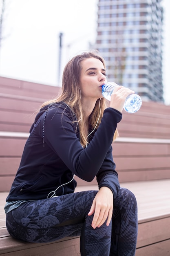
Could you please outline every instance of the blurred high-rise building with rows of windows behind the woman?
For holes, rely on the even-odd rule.
[[[161,0],[99,0],[95,48],[108,81],[163,102]]]

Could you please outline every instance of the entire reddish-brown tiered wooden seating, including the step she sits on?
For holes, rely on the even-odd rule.
[[[35,112],[59,88],[0,77],[0,254],[80,255],[79,238],[32,244],[15,240],[5,227],[4,203],[18,169]],[[133,115],[123,112],[113,144],[119,181],[135,193],[139,206],[137,256],[167,256],[170,236],[170,106],[143,102]],[[77,191],[97,182],[76,177]],[[128,182],[128,183],[127,183]],[[168,185],[167,185],[168,184]],[[159,190],[158,190],[159,188]],[[168,208],[168,209],[167,209]]]

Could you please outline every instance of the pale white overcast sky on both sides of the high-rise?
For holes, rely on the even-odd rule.
[[[2,2],[2,0],[0,0]],[[58,77],[59,34],[62,70],[75,54],[88,50],[97,35],[98,0],[6,0],[0,76],[47,85]],[[170,0],[162,0],[164,99],[170,104]]]

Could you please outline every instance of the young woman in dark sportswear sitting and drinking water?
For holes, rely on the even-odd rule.
[[[104,83],[104,59],[77,55],[64,69],[61,95],[40,109],[5,205],[14,238],[45,243],[81,234],[82,256],[135,255],[137,203],[119,186],[111,146],[133,91],[119,86],[106,108]],[[73,193],[74,175],[96,176],[99,191]]]

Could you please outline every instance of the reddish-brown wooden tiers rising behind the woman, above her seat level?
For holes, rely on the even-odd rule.
[[[11,187],[36,110],[59,90],[0,77],[0,191]],[[123,112],[118,130],[113,157],[120,182],[170,178],[170,106],[143,102],[139,112]]]

